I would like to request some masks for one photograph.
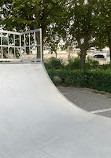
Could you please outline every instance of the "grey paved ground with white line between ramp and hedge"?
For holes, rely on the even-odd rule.
[[[87,88],[58,87],[58,89],[78,107],[92,113],[111,117],[111,94]]]

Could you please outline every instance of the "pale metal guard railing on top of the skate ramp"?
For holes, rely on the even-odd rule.
[[[42,61],[42,30],[0,30],[0,61]]]

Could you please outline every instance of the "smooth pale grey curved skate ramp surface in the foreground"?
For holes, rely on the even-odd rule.
[[[111,120],[64,98],[39,64],[0,64],[1,158],[111,158]]]

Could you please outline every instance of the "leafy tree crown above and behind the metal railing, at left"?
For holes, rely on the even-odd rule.
[[[61,23],[64,23],[65,0],[3,0],[2,25],[8,30],[42,28],[44,43],[53,46],[61,38]],[[63,24],[62,24],[63,25]],[[37,40],[39,36],[37,36]],[[55,47],[51,47],[53,50]]]

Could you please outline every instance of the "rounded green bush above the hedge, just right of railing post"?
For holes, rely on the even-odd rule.
[[[55,57],[52,57],[47,62],[45,62],[45,67],[47,70],[52,69],[52,66],[53,66],[53,69],[55,70],[64,68],[63,61]]]

